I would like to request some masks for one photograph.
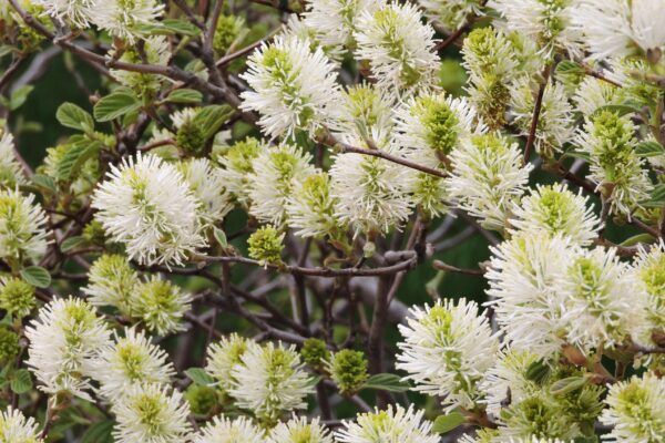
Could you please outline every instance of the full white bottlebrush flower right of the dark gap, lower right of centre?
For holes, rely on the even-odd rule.
[[[446,410],[472,409],[478,383],[494,363],[499,340],[474,301],[444,300],[424,310],[413,308],[398,343],[397,369],[413,380],[416,391],[442,398]]]

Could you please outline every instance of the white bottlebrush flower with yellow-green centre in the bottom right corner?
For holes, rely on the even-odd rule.
[[[601,422],[611,427],[611,442],[658,442],[665,435],[665,379],[646,373],[642,379],[610,385],[607,409]]]

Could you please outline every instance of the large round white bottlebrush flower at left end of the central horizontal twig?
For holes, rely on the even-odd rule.
[[[143,265],[182,265],[206,244],[198,200],[177,168],[154,155],[140,154],[111,166],[92,206],[106,234]]]

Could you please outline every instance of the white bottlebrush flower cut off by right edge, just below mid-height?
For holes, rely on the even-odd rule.
[[[631,266],[633,281],[638,290],[632,290],[635,298],[644,300],[644,310],[631,320],[631,338],[645,348],[654,348],[654,331],[665,331],[665,244],[661,240],[651,248],[640,248],[637,258]]]

